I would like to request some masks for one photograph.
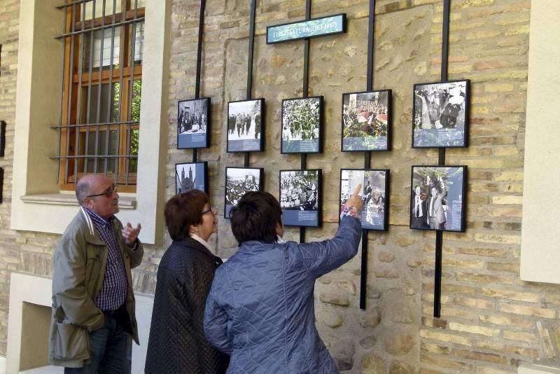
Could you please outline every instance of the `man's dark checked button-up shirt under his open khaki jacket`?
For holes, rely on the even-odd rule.
[[[123,256],[120,254],[120,237],[113,230],[113,219],[115,217],[105,220],[90,209],[85,208],[85,211],[90,215],[101,240],[109,249],[105,279],[99,296],[95,300],[95,305],[104,311],[117,310],[125,303],[127,298],[128,282],[125,263],[123,263]]]

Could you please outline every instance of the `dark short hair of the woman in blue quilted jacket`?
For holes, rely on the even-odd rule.
[[[239,245],[247,240],[274,243],[276,224],[282,223],[282,209],[270,193],[252,191],[239,200],[237,207],[232,207],[230,220]]]

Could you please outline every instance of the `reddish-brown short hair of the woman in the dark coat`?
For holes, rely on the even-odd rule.
[[[202,223],[202,211],[210,202],[200,190],[190,190],[175,195],[165,203],[165,224],[173,240],[190,236],[190,226]]]

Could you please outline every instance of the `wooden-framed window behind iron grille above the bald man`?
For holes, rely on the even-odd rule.
[[[59,181],[106,173],[135,192],[146,0],[66,0]]]

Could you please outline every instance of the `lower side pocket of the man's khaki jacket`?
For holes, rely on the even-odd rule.
[[[90,358],[90,334],[78,325],[56,323],[53,356],[55,359],[87,360]]]

